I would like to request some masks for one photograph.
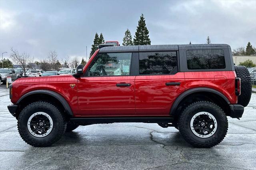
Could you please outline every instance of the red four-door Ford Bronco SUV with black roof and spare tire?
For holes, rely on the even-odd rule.
[[[109,46],[72,75],[16,79],[8,109],[32,146],[80,125],[142,122],[210,148],[226,136],[228,116],[242,117],[251,87],[226,44]]]

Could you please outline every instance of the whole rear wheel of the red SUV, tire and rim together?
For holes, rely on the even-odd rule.
[[[192,103],[180,115],[178,128],[184,139],[194,147],[211,148],[227,134],[228,119],[224,111],[209,101]]]

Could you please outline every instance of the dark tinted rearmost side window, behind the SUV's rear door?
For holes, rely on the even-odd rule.
[[[225,57],[222,49],[187,50],[188,69],[224,69]]]

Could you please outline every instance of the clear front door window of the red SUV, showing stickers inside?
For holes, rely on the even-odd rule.
[[[130,75],[131,60],[132,53],[99,53],[89,68],[89,75]]]

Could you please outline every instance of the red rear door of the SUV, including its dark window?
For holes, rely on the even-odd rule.
[[[140,52],[135,78],[136,115],[165,116],[185,91],[184,73],[178,72],[177,51]]]

